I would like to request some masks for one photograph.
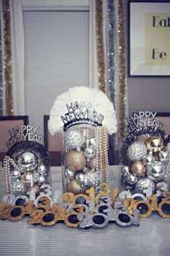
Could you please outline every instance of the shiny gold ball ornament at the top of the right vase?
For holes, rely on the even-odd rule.
[[[148,150],[152,150],[154,154],[157,154],[164,148],[164,140],[161,137],[149,137],[146,140],[146,147]]]

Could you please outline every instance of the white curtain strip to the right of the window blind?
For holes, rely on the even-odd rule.
[[[89,1],[89,86],[99,88],[97,72],[96,1]]]

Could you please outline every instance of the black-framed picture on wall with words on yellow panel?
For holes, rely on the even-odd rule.
[[[170,76],[170,1],[128,2],[128,75]]]

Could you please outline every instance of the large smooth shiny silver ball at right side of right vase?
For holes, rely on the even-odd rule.
[[[155,161],[152,166],[148,166],[148,175],[153,176],[154,181],[161,181],[164,178],[166,168],[160,161]]]

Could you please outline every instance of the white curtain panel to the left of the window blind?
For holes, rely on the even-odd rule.
[[[14,115],[24,115],[24,25],[22,0],[10,0]]]

